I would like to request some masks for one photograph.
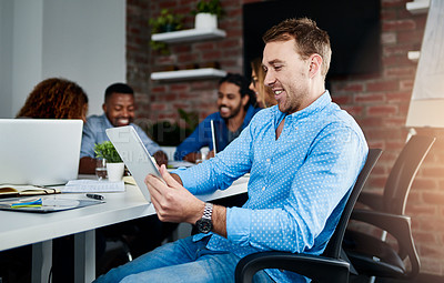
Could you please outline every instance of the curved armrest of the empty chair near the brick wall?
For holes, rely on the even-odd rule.
[[[417,274],[421,264],[413,242],[410,216],[369,210],[353,210],[350,219],[374,225],[393,235],[400,245],[401,259],[408,255],[412,263],[411,274]]]

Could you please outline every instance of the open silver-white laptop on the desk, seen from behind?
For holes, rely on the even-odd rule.
[[[0,184],[77,179],[82,128],[81,120],[0,119]]]

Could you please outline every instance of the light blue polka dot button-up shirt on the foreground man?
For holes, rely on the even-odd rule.
[[[325,91],[290,115],[278,107],[261,110],[224,151],[174,173],[190,192],[205,194],[226,189],[250,172],[249,200],[242,208],[226,210],[228,239],[213,234],[210,250],[241,257],[259,251],[317,255],[334,232],[344,195],[353,188],[367,151],[357,123]],[[292,272],[266,272],[276,282],[306,281]]]

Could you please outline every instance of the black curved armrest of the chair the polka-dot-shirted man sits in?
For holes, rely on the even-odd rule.
[[[316,282],[349,282],[350,264],[343,260],[286,252],[261,252],[243,257],[235,269],[235,282],[250,283],[258,271],[280,269],[307,276]]]

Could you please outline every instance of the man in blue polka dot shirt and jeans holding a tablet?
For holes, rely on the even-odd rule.
[[[369,151],[364,134],[325,90],[330,39],[314,21],[290,19],[263,37],[262,64],[278,105],[254,115],[223,152],[165,183],[145,183],[160,220],[201,232],[158,247],[97,282],[234,282],[243,256],[258,251],[321,254]],[[242,208],[211,205],[194,194],[228,188],[250,172]],[[265,270],[254,282],[307,282]]]

